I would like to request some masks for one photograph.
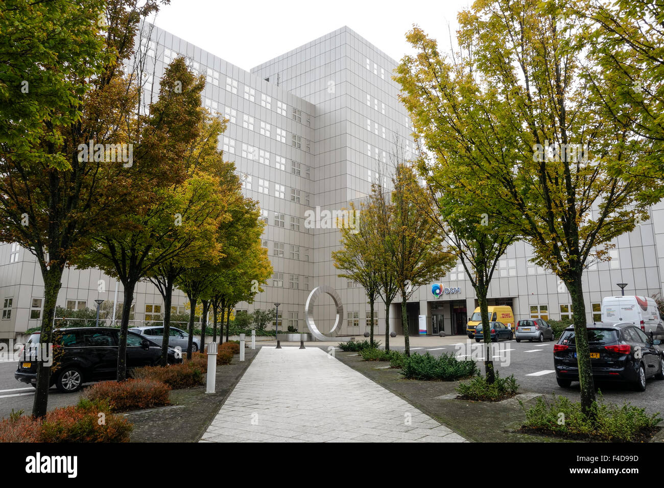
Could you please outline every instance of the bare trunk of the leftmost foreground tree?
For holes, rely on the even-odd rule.
[[[53,317],[55,316],[58,293],[62,287],[62,269],[51,265],[50,269],[42,272],[44,278],[44,311],[42,312],[41,333],[39,337],[40,347],[48,348],[52,343]],[[50,354],[52,355],[52,349]],[[48,410],[48,388],[50,387],[50,366],[45,366],[44,353],[40,361],[37,361],[37,389],[33,398],[33,417],[39,418],[46,415]]]

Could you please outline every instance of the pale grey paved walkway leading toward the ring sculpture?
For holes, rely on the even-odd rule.
[[[201,442],[467,442],[317,347],[263,347]]]

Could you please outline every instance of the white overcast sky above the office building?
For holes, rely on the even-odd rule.
[[[250,70],[284,52],[347,25],[400,60],[409,52],[405,34],[417,24],[449,45],[457,12],[471,0],[264,1],[171,0],[153,19],[177,37]]]

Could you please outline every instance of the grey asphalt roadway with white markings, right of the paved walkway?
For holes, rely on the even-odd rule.
[[[493,343],[499,349],[493,351],[493,361],[501,376],[514,374],[522,391],[544,394],[564,395],[574,401],[580,400],[579,384],[573,382],[570,388],[561,388],[556,382],[553,366],[553,345],[555,341],[543,343],[517,341],[501,341]],[[427,351],[435,356],[441,354],[470,355],[479,361],[479,368],[484,374],[483,343],[475,343],[474,339],[459,336],[457,345],[436,345],[432,347],[411,347],[411,353],[424,354]],[[480,347],[480,349],[476,349]],[[390,347],[403,351],[403,347]],[[662,413],[664,418],[664,380],[649,378],[645,392],[633,390],[629,384],[604,382],[595,385],[608,402],[622,405],[623,402],[639,408],[645,408],[649,414]],[[1,401],[1,400],[0,400]]]

